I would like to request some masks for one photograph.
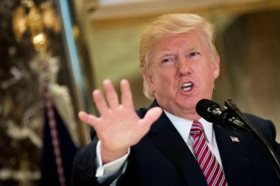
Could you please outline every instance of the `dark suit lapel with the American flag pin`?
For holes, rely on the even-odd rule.
[[[252,169],[243,148],[245,140],[243,140],[242,134],[237,130],[219,127],[215,124],[213,124],[213,128],[228,185],[250,185],[252,177],[248,174],[252,172]],[[230,136],[237,138],[232,141]]]

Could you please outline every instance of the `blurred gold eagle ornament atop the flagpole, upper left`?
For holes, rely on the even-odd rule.
[[[52,3],[43,2],[38,8],[32,0],[21,1],[12,17],[12,29],[17,42],[21,42],[23,34],[29,30],[34,49],[37,52],[46,52],[49,41],[44,32],[45,28],[55,33],[61,30],[61,19],[52,8]]]

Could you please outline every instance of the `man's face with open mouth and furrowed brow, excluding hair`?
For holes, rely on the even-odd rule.
[[[152,50],[150,63],[145,78],[163,110],[190,120],[200,118],[195,106],[212,98],[219,76],[219,61],[206,37],[194,30],[162,39]]]

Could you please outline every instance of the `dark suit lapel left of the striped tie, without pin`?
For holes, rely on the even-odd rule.
[[[166,114],[162,114],[151,128],[150,136],[168,159],[178,168],[187,185],[207,185],[197,160]]]

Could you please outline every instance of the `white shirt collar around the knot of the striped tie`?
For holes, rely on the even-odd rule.
[[[190,136],[190,129],[192,127],[193,121],[188,120],[186,118],[180,118],[179,116],[175,116],[174,114],[171,114],[166,110],[163,111],[166,114],[166,116],[169,118],[171,123],[174,125],[174,127],[177,129],[177,131],[181,134],[181,136],[183,138],[188,139],[188,137]],[[208,143],[212,142],[213,124],[209,123],[204,118],[199,118],[198,121],[203,126],[204,134],[206,136],[206,141],[208,141]]]

